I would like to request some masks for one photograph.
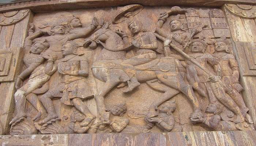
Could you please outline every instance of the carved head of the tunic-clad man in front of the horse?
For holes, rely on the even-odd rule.
[[[63,43],[61,47],[61,54],[63,57],[74,54],[77,55],[77,50],[78,50],[79,45],[74,42],[74,41],[67,41]]]

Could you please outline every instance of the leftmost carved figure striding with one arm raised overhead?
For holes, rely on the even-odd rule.
[[[32,41],[43,34],[44,32],[42,31],[35,32],[34,34],[29,35],[25,40],[26,55],[23,58],[23,62],[27,68],[19,74],[15,84],[17,91],[14,94],[14,98],[15,107],[18,113],[14,119],[12,119],[10,124],[22,117],[26,117],[26,99],[38,110],[38,115],[45,112],[44,108],[39,105],[40,103],[37,96],[32,92],[41,88],[50,79],[50,76],[56,72],[57,67],[53,64],[53,57],[51,55],[44,54],[45,50],[49,48],[49,43],[45,39],[43,41],[36,41],[32,45]],[[44,64],[45,60],[47,60],[46,65]],[[21,81],[28,76],[29,80],[27,83],[19,88]],[[29,94],[33,95],[28,96]]]

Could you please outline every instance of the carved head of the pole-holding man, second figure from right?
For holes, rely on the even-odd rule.
[[[207,48],[207,43],[203,40],[196,39],[191,42],[190,49],[193,53],[204,53]]]

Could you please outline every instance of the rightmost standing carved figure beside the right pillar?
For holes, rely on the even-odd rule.
[[[243,90],[242,86],[239,84],[239,69],[237,61],[234,55],[230,54],[229,45],[227,40],[224,38],[216,39],[214,41],[215,53],[212,54],[222,69],[222,82],[226,84],[226,93],[235,101],[235,103],[240,108],[242,115],[245,120],[252,124],[252,119],[247,112],[249,109],[246,107],[244,100],[239,92]]]

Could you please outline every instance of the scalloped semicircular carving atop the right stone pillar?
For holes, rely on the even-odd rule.
[[[246,5],[246,4],[225,4],[225,7],[232,14],[247,19],[256,18],[256,5]]]

